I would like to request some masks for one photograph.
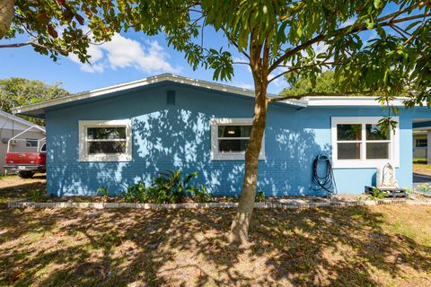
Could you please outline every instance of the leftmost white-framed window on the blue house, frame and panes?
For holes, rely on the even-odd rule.
[[[129,119],[79,121],[79,161],[131,160],[132,125]]]

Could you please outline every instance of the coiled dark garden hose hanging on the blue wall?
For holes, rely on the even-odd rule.
[[[318,173],[318,167],[321,163],[326,165],[326,170],[322,176]],[[316,156],[314,161],[312,161],[312,185],[314,190],[325,190],[329,196],[337,194],[337,185],[335,184],[330,158],[323,153]]]

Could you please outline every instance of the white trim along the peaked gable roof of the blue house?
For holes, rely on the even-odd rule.
[[[40,103],[35,103],[35,104],[27,105],[27,106],[18,107],[16,109],[14,109],[13,111],[16,114],[23,114],[23,113],[26,113],[26,112],[29,112],[29,111],[35,110],[35,109],[45,109],[48,107],[57,106],[57,105],[71,102],[71,101],[75,101],[75,100],[90,99],[90,98],[98,97],[98,96],[108,94],[111,92],[125,91],[128,89],[142,87],[142,86],[145,86],[145,85],[148,85],[151,83],[161,83],[164,81],[170,81],[170,82],[174,82],[174,83],[184,83],[184,84],[189,84],[189,85],[196,86],[196,87],[207,88],[208,90],[231,92],[231,93],[235,93],[235,94],[254,98],[254,91],[252,91],[252,90],[233,87],[233,86],[222,84],[222,83],[211,83],[211,82],[207,82],[207,81],[182,77],[182,76],[174,75],[174,74],[160,74],[160,75],[155,75],[155,76],[148,77],[148,78],[145,78],[142,80],[137,80],[137,81],[128,82],[128,83],[120,83],[120,84],[116,84],[116,85],[101,88],[101,89],[75,93],[73,95],[63,97],[63,98],[46,100],[46,101],[42,101]],[[277,97],[277,95],[269,95],[269,96],[270,97]],[[284,102],[286,104],[293,105],[293,106],[299,106],[301,108],[304,108],[307,106],[305,100],[283,100],[280,102]]]

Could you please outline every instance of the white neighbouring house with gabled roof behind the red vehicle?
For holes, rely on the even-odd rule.
[[[0,110],[0,174],[4,174],[4,157],[7,143],[14,135],[22,133],[31,126],[37,126],[21,117],[16,117]],[[29,138],[29,143],[33,143]]]

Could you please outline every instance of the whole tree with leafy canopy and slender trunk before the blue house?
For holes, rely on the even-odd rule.
[[[194,68],[214,69],[215,79],[231,79],[234,64],[251,67],[253,127],[230,237],[237,243],[248,237],[268,104],[306,95],[270,99],[268,84],[280,76],[291,84],[303,76],[315,81],[323,69],[332,69],[346,93],[377,92],[389,102],[407,90],[409,105],[429,104],[430,8],[429,1],[412,0],[132,0],[121,7],[126,28],[163,33]],[[207,46],[206,28],[223,34],[227,45]],[[374,39],[365,41],[363,35],[370,32]],[[317,45],[325,49],[318,53]],[[234,62],[233,51],[244,60]]]

